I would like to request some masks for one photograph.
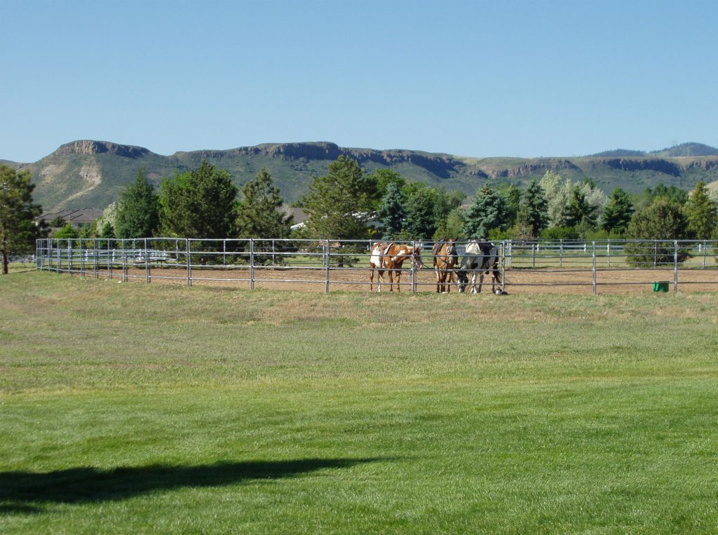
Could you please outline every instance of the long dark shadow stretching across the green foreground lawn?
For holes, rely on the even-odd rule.
[[[47,473],[0,472],[0,513],[40,513],[39,503],[87,503],[121,500],[155,490],[215,487],[247,480],[292,478],[325,468],[349,468],[390,460],[298,459],[284,461],[220,462],[204,466],[142,466],[68,468]]]

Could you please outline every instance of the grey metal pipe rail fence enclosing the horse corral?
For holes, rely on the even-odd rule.
[[[368,289],[370,241],[188,238],[43,238],[37,269],[123,282],[312,285]],[[432,266],[430,241],[419,247]],[[457,242],[460,259],[467,242]],[[508,292],[562,287],[592,294],[667,282],[673,291],[718,289],[718,241],[496,241],[500,287]],[[457,266],[458,267],[458,266]],[[404,291],[436,287],[432,269],[404,263]],[[387,284],[386,276],[384,284]],[[375,282],[376,284],[376,282]],[[665,287],[665,286],[664,286]],[[455,288],[455,287],[454,287]]]

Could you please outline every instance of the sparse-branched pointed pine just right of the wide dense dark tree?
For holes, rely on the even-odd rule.
[[[241,238],[289,238],[292,215],[280,208],[284,200],[269,172],[261,169],[242,188],[238,205],[237,231]]]

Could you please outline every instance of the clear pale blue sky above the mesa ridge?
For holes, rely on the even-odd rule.
[[[0,0],[0,159],[718,146],[718,1]]]

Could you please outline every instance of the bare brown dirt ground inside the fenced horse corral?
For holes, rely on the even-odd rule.
[[[94,271],[85,271],[85,276],[95,276]],[[596,291],[598,294],[621,294],[653,292],[653,282],[666,281],[668,290],[673,292],[673,269],[603,269],[596,272]],[[102,279],[122,280],[121,269],[98,270],[96,276]],[[322,268],[263,268],[255,269],[253,286],[255,288],[293,289],[325,292],[327,271]],[[249,269],[192,269],[192,286],[212,285],[236,288],[250,288]],[[329,271],[329,291],[369,292],[369,270],[331,269]],[[373,290],[376,291],[378,276],[374,275]],[[152,282],[164,284],[187,284],[185,269],[169,269],[151,266],[147,269],[128,269],[126,280],[129,282]],[[401,276],[401,292],[411,292],[411,274],[404,271]],[[488,283],[488,284],[487,284]],[[483,292],[490,292],[490,277],[485,276]],[[436,276],[431,269],[416,272],[416,292],[436,292]],[[507,269],[505,272],[505,290],[509,294],[592,294],[593,273],[577,269]],[[679,292],[718,291],[718,269],[679,269]],[[388,291],[385,280],[382,291]],[[396,291],[396,284],[394,285]],[[451,292],[457,287],[452,284]]]

